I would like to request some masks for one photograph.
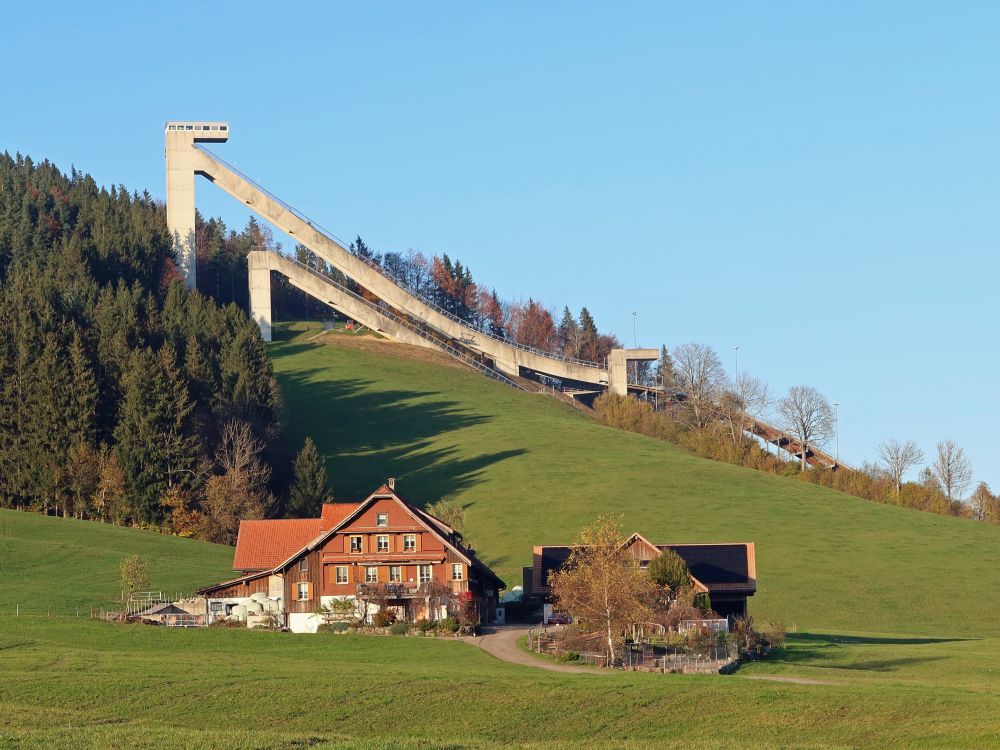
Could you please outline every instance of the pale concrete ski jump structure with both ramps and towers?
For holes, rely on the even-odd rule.
[[[229,140],[228,123],[172,121],[166,124],[165,134],[167,227],[188,287],[197,284],[194,179],[201,175],[381,300],[372,303],[315,269],[274,251],[254,250],[247,256],[250,314],[265,341],[271,340],[274,271],[306,294],[374,331],[397,341],[444,351],[510,385],[517,385],[510,378],[531,371],[577,383],[581,390],[607,388],[625,394],[629,389],[628,363],[659,357],[656,349],[615,349],[605,363],[588,362],[532,349],[472,328],[415,295],[382,268],[351,253],[331,233],[202,147]]]

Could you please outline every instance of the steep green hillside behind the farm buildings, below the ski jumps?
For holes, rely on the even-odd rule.
[[[467,538],[510,585],[533,545],[571,541],[616,511],[655,542],[756,542],[752,606],[764,618],[1000,634],[1000,527],[707,461],[419,350],[307,340],[315,332],[290,326],[270,352],[288,430],[298,445],[316,440],[337,497],[360,498],[392,475],[415,502],[457,499]]]

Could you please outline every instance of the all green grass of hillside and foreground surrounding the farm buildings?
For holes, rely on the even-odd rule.
[[[272,352],[287,427],[316,439],[338,499],[388,475],[416,501],[453,497],[509,583],[532,545],[609,510],[655,541],[752,540],[753,610],[791,627],[786,647],[728,677],[566,674],[432,638],[103,623],[86,615],[118,598],[124,555],[190,592],[231,574],[232,548],[0,511],[0,748],[1000,747],[1000,529],[712,463],[313,333]]]

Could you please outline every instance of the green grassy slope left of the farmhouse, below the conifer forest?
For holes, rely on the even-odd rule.
[[[89,612],[120,598],[126,555],[150,561],[150,586],[190,594],[233,575],[233,548],[153,531],[0,510],[0,615]]]

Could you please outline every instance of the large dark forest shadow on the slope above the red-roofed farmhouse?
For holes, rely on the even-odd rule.
[[[469,455],[458,436],[442,446],[442,436],[490,418],[441,393],[373,390],[371,380],[326,378],[321,368],[278,376],[290,431],[299,444],[312,436],[337,498],[359,499],[392,476],[404,496],[425,504],[470,487],[487,467],[526,452]]]

